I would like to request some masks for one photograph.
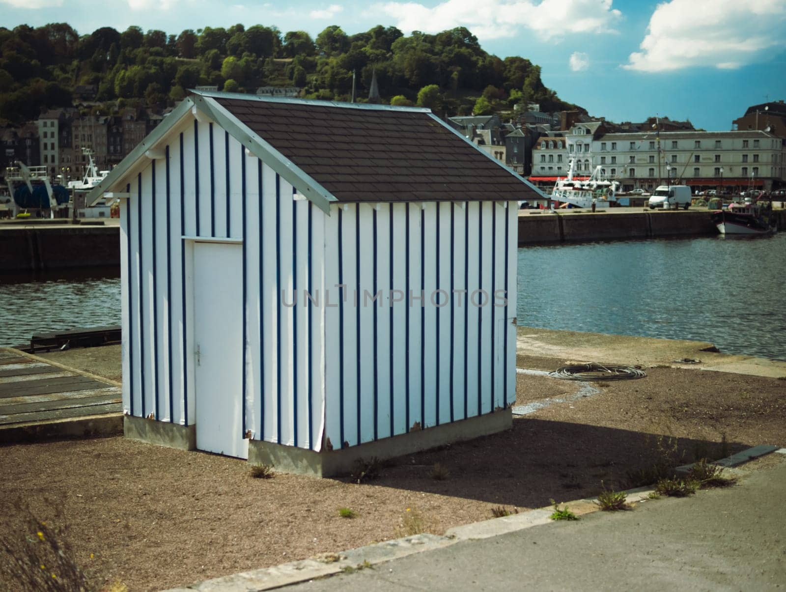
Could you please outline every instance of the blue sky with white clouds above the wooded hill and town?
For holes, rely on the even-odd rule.
[[[728,130],[748,105],[786,99],[786,0],[0,0],[0,25],[131,24],[178,33],[242,23],[349,34],[465,26],[499,57],[542,66],[546,86],[614,121],[659,114]]]

